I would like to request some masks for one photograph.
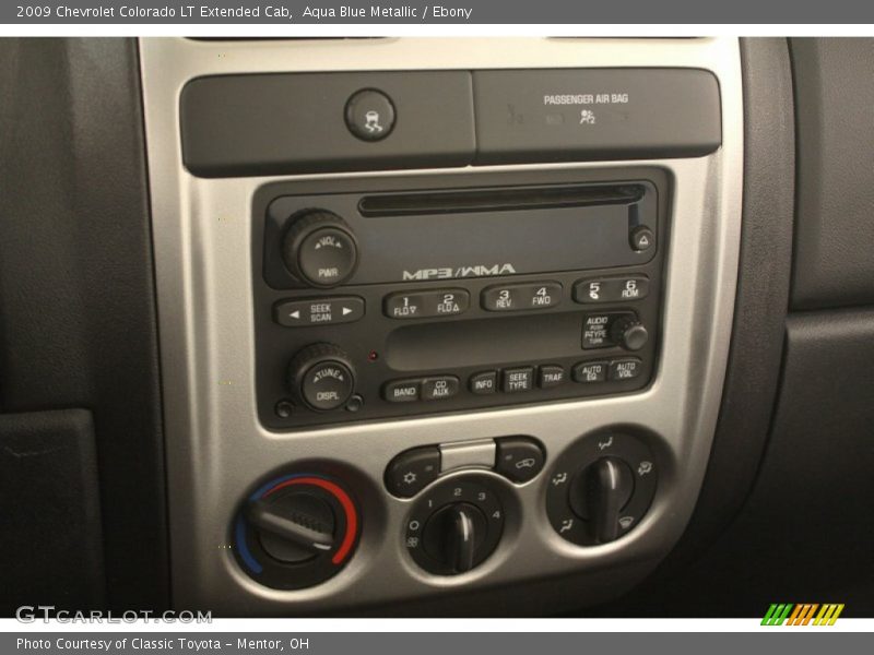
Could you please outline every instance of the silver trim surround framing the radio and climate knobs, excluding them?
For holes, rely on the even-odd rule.
[[[163,365],[174,600],[224,615],[326,612],[378,603],[483,591],[550,576],[589,575],[576,606],[628,587],[682,534],[705,474],[728,357],[741,228],[743,98],[736,39],[401,38],[316,41],[141,40],[146,143]],[[580,402],[388,420],[275,433],[261,427],[255,398],[251,198],[288,178],[198,179],[181,165],[179,93],[198,75],[273,71],[694,67],[720,82],[723,145],[695,159],[645,162],[674,181],[665,269],[662,355],[643,392]],[[639,162],[416,170],[614,168]],[[391,172],[331,177],[379,177]],[[322,179],[298,176],[294,179]],[[660,488],[625,538],[579,548],[556,535],[544,509],[552,462],[581,436],[623,424],[659,436]],[[382,489],[382,472],[416,445],[530,434],[546,449],[543,474],[506,490],[520,524],[498,550],[463,575],[420,570],[402,544],[409,500]],[[258,585],[226,549],[246,491],[283,465],[341,458],[363,503],[364,531],[349,567],[326,584],[282,592]],[[450,475],[464,475],[450,474]],[[512,519],[508,519],[508,525]],[[604,576],[605,569],[611,574]],[[524,602],[524,594],[518,594]],[[533,611],[529,608],[529,611]]]

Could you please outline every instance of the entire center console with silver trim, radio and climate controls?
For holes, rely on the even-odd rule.
[[[736,40],[141,57],[177,603],[531,614],[640,582],[719,410]]]

